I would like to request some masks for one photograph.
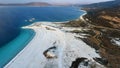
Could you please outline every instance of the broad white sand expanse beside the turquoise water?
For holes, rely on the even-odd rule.
[[[75,34],[65,33],[58,28],[40,23],[24,28],[33,29],[36,35],[5,68],[69,68],[72,61],[78,57],[100,57],[93,48],[76,39]],[[47,59],[43,52],[54,46],[54,42],[55,46],[58,46],[58,58]]]

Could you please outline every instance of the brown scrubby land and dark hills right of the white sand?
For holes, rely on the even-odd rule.
[[[82,8],[87,12],[86,15],[82,16],[79,20],[70,21],[64,24],[68,27],[83,27],[84,31],[82,32],[79,30],[74,30],[72,32],[86,35],[86,38],[77,38],[82,39],[88,45],[95,48],[96,52],[102,57],[101,59],[95,60],[99,60],[99,62],[102,62],[107,68],[120,68],[119,3],[120,1],[116,0],[86,5],[87,7],[84,6]],[[105,6],[105,4],[108,6]]]

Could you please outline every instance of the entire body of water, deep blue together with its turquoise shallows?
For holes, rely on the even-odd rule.
[[[36,21],[69,21],[79,18],[83,13],[76,7],[0,7],[0,68],[35,35],[33,30],[21,29],[22,26]],[[32,18],[35,18],[33,22],[25,21]]]

